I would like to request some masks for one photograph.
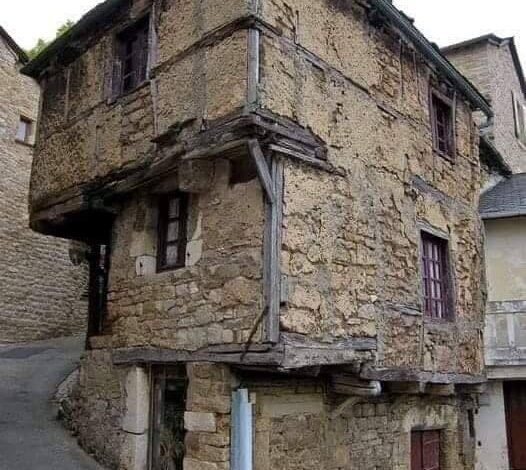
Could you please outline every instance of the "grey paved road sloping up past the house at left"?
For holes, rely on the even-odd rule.
[[[82,348],[81,338],[0,347],[0,470],[103,470],[62,428],[51,401]]]

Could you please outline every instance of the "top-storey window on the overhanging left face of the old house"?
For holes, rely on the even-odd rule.
[[[117,60],[114,72],[115,94],[127,93],[146,80],[148,67],[148,17],[117,37]]]

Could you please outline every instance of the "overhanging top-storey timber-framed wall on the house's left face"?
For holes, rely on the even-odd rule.
[[[215,1],[136,0],[109,30],[101,29],[85,53],[45,80],[33,206],[151,164],[159,156],[151,139],[169,128],[197,133],[241,109],[247,94],[247,33],[223,29],[246,16],[249,3],[230,0],[219,8]],[[152,4],[151,79],[116,96],[115,33]],[[55,178],[56,172],[62,177]]]

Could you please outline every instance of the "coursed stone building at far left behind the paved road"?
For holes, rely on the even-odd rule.
[[[87,271],[70,242],[29,227],[40,89],[20,73],[27,60],[0,27],[0,344],[79,334],[87,318]]]

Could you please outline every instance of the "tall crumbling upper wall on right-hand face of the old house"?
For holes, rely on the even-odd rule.
[[[481,170],[469,105],[457,96],[451,162],[432,148],[429,84],[439,79],[388,26],[325,0],[269,0],[262,16],[275,29],[261,38],[261,105],[326,142],[334,168],[285,164],[283,329],[378,338],[383,366],[480,373]],[[422,229],[449,240],[450,323],[422,317]]]

